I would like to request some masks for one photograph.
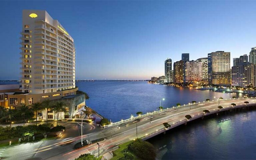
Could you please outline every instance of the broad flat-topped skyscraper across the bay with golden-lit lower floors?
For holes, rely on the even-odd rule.
[[[209,85],[230,85],[230,52],[208,53]]]

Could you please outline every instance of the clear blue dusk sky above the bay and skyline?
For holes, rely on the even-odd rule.
[[[0,80],[19,79],[22,10],[46,10],[74,38],[76,79],[150,79],[164,61],[256,46],[255,1],[0,1]],[[5,47],[6,48],[5,48]],[[232,61],[231,61],[232,62]]]

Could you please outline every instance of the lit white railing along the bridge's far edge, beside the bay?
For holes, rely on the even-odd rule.
[[[177,108],[183,108],[183,107],[188,107],[188,106],[195,106],[195,105],[199,105],[199,104],[204,104],[204,103],[211,103],[211,102],[218,102],[218,101],[228,101],[228,100],[240,100],[240,99],[256,99],[256,97],[250,97],[250,98],[225,98],[225,99],[217,99],[217,100],[210,100],[210,101],[203,101],[203,102],[196,102],[196,103],[188,103],[188,104],[184,104],[184,105],[180,105],[180,106],[173,106],[171,108],[166,108],[166,109],[161,109],[161,110],[158,110],[158,111],[153,111],[153,112],[147,112],[146,114],[142,114],[142,115],[139,115],[139,116],[131,116],[131,118],[128,118],[128,119],[125,119],[125,120],[121,120],[121,121],[118,121],[118,122],[114,122],[114,123],[110,123],[106,126],[103,126],[102,128],[106,128],[106,127],[110,127],[110,126],[113,126],[113,125],[117,125],[117,124],[121,124],[121,123],[125,123],[125,122],[128,122],[128,121],[131,121],[131,120],[135,120],[137,118],[143,118],[143,117],[146,117],[146,116],[151,116],[151,115],[154,115],[154,114],[157,114],[159,112],[165,112],[165,111],[168,111],[168,110],[171,110],[171,109],[177,109]]]

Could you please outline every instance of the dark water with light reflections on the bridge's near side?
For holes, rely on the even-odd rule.
[[[255,159],[255,125],[256,111],[233,113],[188,123],[149,142],[158,159]]]

